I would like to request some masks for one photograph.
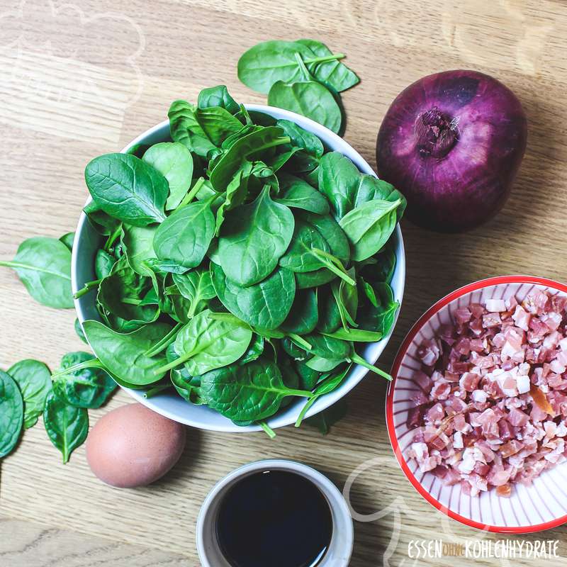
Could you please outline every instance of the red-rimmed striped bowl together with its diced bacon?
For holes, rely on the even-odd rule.
[[[567,522],[567,286],[502,276],[450,293],[392,375],[388,434],[428,502],[491,532]]]

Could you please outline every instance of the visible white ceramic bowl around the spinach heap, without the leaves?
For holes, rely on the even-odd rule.
[[[357,165],[361,172],[376,176],[369,164],[367,164],[361,155],[349,146],[342,137],[337,136],[335,133],[332,133],[330,130],[313,120],[300,116],[296,113],[284,111],[281,108],[273,108],[271,106],[250,104],[247,105],[247,108],[250,111],[259,111],[268,114],[276,119],[291,120],[297,123],[302,128],[305,128],[305,130],[309,130],[320,137],[320,140],[322,140],[327,149],[336,150],[337,152],[341,152],[352,159],[352,162]],[[155,125],[153,128],[150,128],[150,130],[147,130],[145,133],[138,136],[122,151],[128,151],[130,147],[133,147],[135,144],[151,145],[157,142],[166,142],[170,140],[169,121],[164,120],[164,122]],[[89,201],[91,201],[90,198],[87,203],[89,203]],[[396,265],[391,285],[393,288],[394,298],[401,303],[405,283],[405,252],[400,225],[396,226],[393,237],[395,242]],[[81,213],[79,224],[77,225],[71,263],[72,288],[74,292],[82,288],[84,283],[87,281],[96,279],[96,276],[94,275],[94,256],[99,247],[101,247],[101,237],[94,228],[92,228],[89,220],[86,218],[86,215]],[[88,319],[100,320],[99,313],[96,311],[94,292],[86,293],[81,298],[75,300],[75,308],[77,309],[77,316],[81,323]],[[367,344],[366,349],[364,349],[364,352],[361,353],[362,356],[364,356],[364,358],[366,358],[366,360],[371,364],[376,362],[383,349],[386,347],[386,344],[391,337],[392,330],[381,341]],[[357,383],[364,378],[366,372],[367,370],[364,366],[355,366],[337,390],[322,396],[313,404],[313,407],[307,412],[307,416],[314,415],[315,413],[328,408],[330,405],[339,400],[339,398],[342,398],[342,396],[351,391],[352,388],[354,388],[354,386],[356,386]],[[206,406],[191,405],[187,403],[176,393],[164,393],[147,400],[144,398],[143,391],[131,390],[129,388],[124,389],[132,395],[135,400],[147,405],[147,407],[151,410],[154,410],[165,417],[169,417],[170,420],[175,420],[186,425],[199,427],[205,430],[239,433],[259,431],[261,429],[257,425],[239,427],[228,420],[228,418],[223,417],[223,415],[220,415],[218,412],[210,410]],[[297,402],[290,404],[287,408],[269,418],[269,426],[276,429],[276,427],[290,425],[296,421],[302,407],[302,400],[298,400]]]

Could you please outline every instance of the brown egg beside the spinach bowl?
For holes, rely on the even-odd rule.
[[[86,460],[104,483],[134,488],[164,476],[184,447],[184,425],[133,403],[96,422],[86,440]]]

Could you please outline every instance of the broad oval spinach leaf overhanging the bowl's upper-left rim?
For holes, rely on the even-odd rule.
[[[89,162],[84,177],[95,203],[114,218],[135,226],[165,219],[167,179],[142,159],[128,154],[101,155]]]

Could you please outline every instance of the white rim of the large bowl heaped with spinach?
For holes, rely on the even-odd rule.
[[[349,159],[352,159],[352,162],[354,162],[354,164],[362,173],[377,177],[376,173],[370,167],[368,162],[366,162],[364,157],[362,157],[359,154],[359,152],[357,152],[357,150],[354,150],[354,147],[349,145],[349,143],[346,142],[344,138],[335,134],[328,128],[325,128],[325,126],[315,122],[315,120],[311,120],[310,118],[306,118],[305,116],[301,116],[291,111],[283,110],[283,108],[276,108],[274,106],[267,106],[263,104],[245,104],[244,106],[249,111],[257,111],[261,113],[266,113],[269,116],[272,116],[273,118],[290,120],[291,122],[300,125],[302,128],[305,128],[305,130],[309,130],[311,133],[317,135],[325,145],[330,145],[327,142],[327,140],[330,140],[330,142],[332,142],[332,151],[337,151],[342,153],[343,155],[347,155],[347,157],[349,157]],[[152,126],[152,128],[145,130],[145,132],[138,135],[137,137],[135,137],[134,140],[129,142],[127,145],[125,145],[125,147],[123,147],[123,149],[121,150],[121,153],[127,152],[128,150],[130,150],[131,147],[143,142],[147,137],[159,133],[160,130],[168,126],[169,126],[169,120],[163,120],[162,122]],[[88,198],[86,199],[84,206],[89,204],[91,201],[92,198],[89,195]],[[75,230],[77,235],[82,234],[82,231],[84,230],[84,226],[86,225],[86,223],[89,223],[89,220],[87,219],[84,210],[81,210],[81,215],[79,216],[79,223],[77,224],[77,229]],[[377,346],[376,350],[373,352],[371,356],[371,359],[368,360],[371,364],[374,364],[378,360],[383,350],[386,348],[386,345],[388,344],[392,336],[395,325],[398,322],[400,308],[403,303],[403,294],[405,290],[405,247],[403,242],[402,231],[400,229],[400,223],[397,223],[395,226],[395,235],[398,239],[398,245],[400,247],[400,254],[398,257],[396,257],[396,266],[395,266],[395,271],[396,272],[399,271],[398,280],[400,283],[398,284],[398,287],[393,291],[395,293],[395,299],[400,303],[400,305],[395,314],[395,319],[390,332],[388,332],[388,335],[386,335],[386,337],[383,337],[378,342],[366,343],[367,345]],[[73,293],[76,293],[79,288],[77,284],[78,269],[79,269],[79,246],[75,246],[72,250],[72,259],[71,259],[71,286]],[[74,300],[75,310],[77,312],[77,318],[79,318],[79,322],[82,325],[82,323],[86,320],[86,316],[84,315],[84,311],[82,309],[81,303],[82,303],[82,298]],[[352,388],[357,386],[357,384],[362,380],[362,378],[364,378],[364,376],[366,376],[366,374],[368,374],[368,372],[369,371],[365,369],[364,366],[360,366],[359,364],[352,366],[352,369],[349,371],[349,376],[342,383],[342,386],[340,388],[337,388],[337,390],[322,396],[318,400],[318,402],[314,403],[313,406],[310,408],[310,410],[306,412],[305,418],[311,417],[312,415],[315,415],[316,413],[329,408],[331,405],[337,402],[337,400],[342,398],[344,395],[347,395],[347,393],[349,393],[349,391],[351,391]],[[262,427],[260,427],[259,425],[246,425],[246,426],[235,425],[226,418],[224,418],[224,420],[219,423],[205,424],[201,420],[192,419],[191,417],[187,417],[185,415],[179,415],[177,412],[172,412],[164,408],[157,407],[157,405],[154,403],[154,400],[159,398],[159,395],[157,395],[155,398],[145,398],[143,391],[133,390],[132,388],[125,388],[123,386],[120,386],[120,388],[127,391],[133,398],[135,398],[137,402],[142,403],[147,408],[150,408],[150,410],[153,410],[159,413],[160,415],[169,418],[170,420],[183,423],[184,425],[197,427],[198,429],[218,431],[218,432],[245,433],[245,432],[262,431]],[[296,421],[300,411],[301,409],[298,408],[297,412],[295,412],[295,415],[291,415],[291,417],[288,417],[287,419],[284,419],[281,415],[278,415],[278,413],[276,413],[275,415],[269,417],[268,420],[266,420],[266,422],[273,429],[279,427],[286,427],[287,425],[292,425]]]

